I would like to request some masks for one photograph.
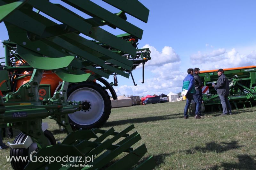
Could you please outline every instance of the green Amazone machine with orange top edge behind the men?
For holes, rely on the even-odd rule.
[[[256,105],[256,66],[223,69],[229,80],[228,99],[233,108],[252,107]],[[217,70],[200,71],[200,78],[209,92],[203,94],[203,107],[207,111],[221,110],[220,98],[212,83],[217,82]]]

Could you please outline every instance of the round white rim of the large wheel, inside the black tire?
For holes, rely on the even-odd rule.
[[[90,104],[88,110],[77,111],[73,114],[68,114],[69,118],[79,125],[90,125],[97,122],[104,113],[104,100],[100,93],[92,88],[79,88],[72,92],[68,101],[81,101]]]

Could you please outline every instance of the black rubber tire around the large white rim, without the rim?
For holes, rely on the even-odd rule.
[[[103,111],[103,113],[102,112],[100,113],[102,115],[98,120],[95,120],[95,122],[92,122],[90,124],[88,123],[86,125],[81,124],[81,123],[79,124],[77,122],[72,121],[70,119],[71,115],[68,115],[70,125],[72,126],[73,129],[80,129],[80,128],[81,129],[91,129],[91,128],[101,127],[102,125],[104,125],[107,122],[109,115],[111,113],[111,100],[110,100],[110,96],[108,95],[108,92],[105,90],[105,88],[103,88],[100,84],[98,84],[96,82],[85,81],[85,82],[69,85],[68,91],[67,91],[67,98],[70,96],[70,94],[72,92],[74,92],[75,90],[80,89],[80,88],[91,88],[94,91],[97,91],[104,101],[104,111]],[[69,100],[69,98],[68,98],[68,100]],[[79,112],[77,112],[77,113],[79,113]],[[77,114],[77,113],[75,112],[74,114]]]

